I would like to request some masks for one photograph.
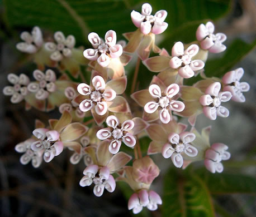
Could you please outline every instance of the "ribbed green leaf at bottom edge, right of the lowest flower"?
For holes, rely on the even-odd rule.
[[[163,217],[215,216],[208,189],[197,175],[171,169],[164,178]]]

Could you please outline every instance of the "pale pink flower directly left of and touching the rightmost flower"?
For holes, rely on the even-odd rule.
[[[205,91],[206,95],[201,96],[199,99],[203,106],[203,114],[205,114],[208,119],[216,120],[217,116],[229,116],[229,110],[221,106],[221,102],[229,101],[232,95],[229,91],[220,92],[220,89],[220,82],[214,82],[207,87]]]

